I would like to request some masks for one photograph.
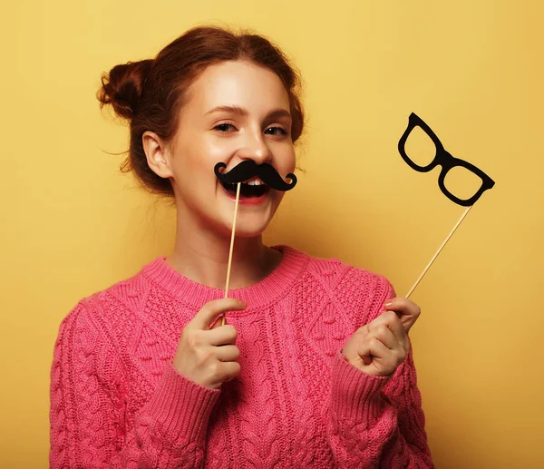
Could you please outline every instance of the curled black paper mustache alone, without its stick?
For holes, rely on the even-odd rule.
[[[215,165],[214,171],[219,181],[227,184],[237,184],[238,182],[248,181],[248,179],[258,176],[261,181],[276,191],[290,191],[296,185],[295,174],[289,172],[286,177],[291,182],[286,182],[278,174],[274,166],[268,163],[257,164],[253,160],[244,160],[226,173],[219,171],[223,168],[227,168],[227,165],[219,162]]]

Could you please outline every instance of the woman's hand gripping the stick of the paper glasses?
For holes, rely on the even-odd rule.
[[[392,298],[384,308],[374,321],[355,331],[342,351],[349,363],[374,376],[391,375],[403,363],[410,352],[408,331],[421,314],[407,298]]]

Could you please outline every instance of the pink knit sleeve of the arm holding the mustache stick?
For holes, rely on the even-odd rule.
[[[50,467],[193,468],[204,460],[219,390],[170,363],[133,418],[120,357],[80,303],[63,319],[53,350]]]

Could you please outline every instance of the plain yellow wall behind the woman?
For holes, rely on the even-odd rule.
[[[308,116],[299,185],[267,231],[405,295],[463,209],[396,144],[416,112],[497,182],[413,294],[439,468],[544,467],[544,68],[538,1],[19,1],[3,5],[0,465],[47,466],[49,371],[78,299],[170,253],[173,213],[118,171],[102,71],[202,23],[292,56]]]

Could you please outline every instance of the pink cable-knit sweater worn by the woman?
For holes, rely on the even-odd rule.
[[[285,246],[267,278],[230,296],[240,375],[221,389],[172,366],[182,328],[223,291],[158,258],[63,319],[51,370],[52,468],[428,468],[410,354],[393,376],[341,349],[383,311],[390,283]]]

